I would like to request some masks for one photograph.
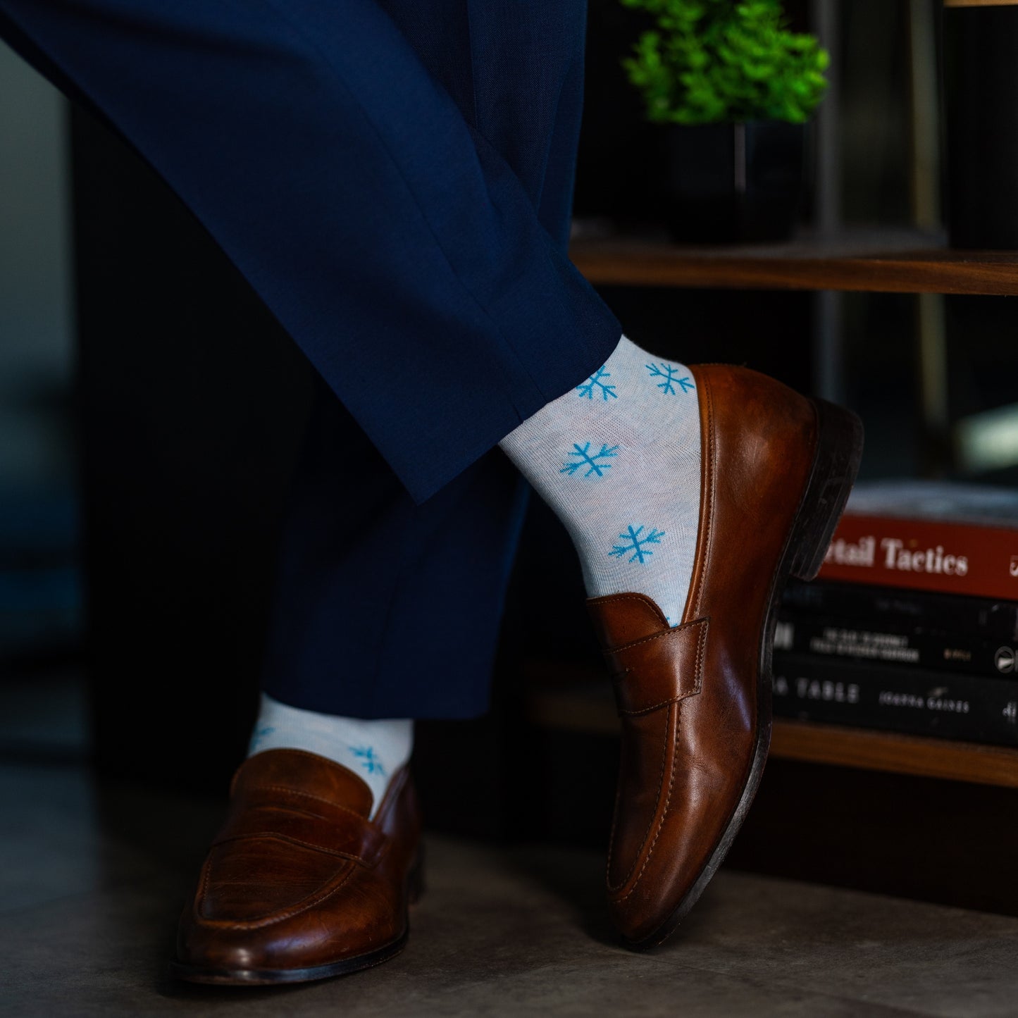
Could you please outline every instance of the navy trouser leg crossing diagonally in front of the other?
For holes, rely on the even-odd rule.
[[[4,23],[174,187],[416,501],[618,341],[376,0],[0,0]]]

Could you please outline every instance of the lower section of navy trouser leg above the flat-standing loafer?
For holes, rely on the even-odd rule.
[[[284,531],[266,692],[352,718],[483,714],[524,504],[495,453],[415,505],[320,393]]]

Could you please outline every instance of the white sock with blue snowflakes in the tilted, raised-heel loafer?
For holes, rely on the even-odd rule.
[[[585,382],[499,445],[565,524],[591,598],[685,609],[700,501],[700,428],[689,370],[625,336]]]

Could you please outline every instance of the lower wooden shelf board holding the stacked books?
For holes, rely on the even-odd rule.
[[[570,671],[574,673],[571,676]],[[531,722],[545,728],[618,734],[618,718],[607,680],[595,682],[589,670],[582,668],[535,665],[527,673],[531,681],[527,696]],[[552,674],[554,683],[548,681]],[[778,718],[774,722],[771,755],[1018,788],[1018,749],[1006,746],[981,746]]]

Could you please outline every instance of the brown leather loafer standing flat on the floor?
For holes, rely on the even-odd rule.
[[[375,818],[353,772],[316,753],[246,759],[177,936],[191,982],[302,982],[377,965],[406,943],[420,817],[404,768]]]

